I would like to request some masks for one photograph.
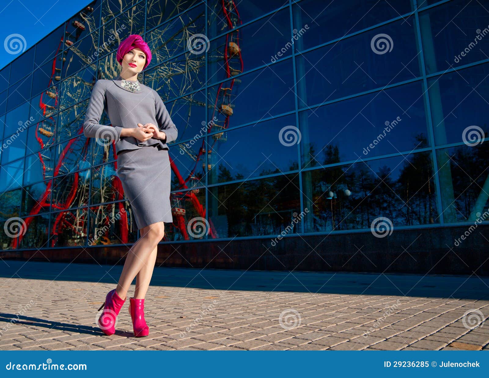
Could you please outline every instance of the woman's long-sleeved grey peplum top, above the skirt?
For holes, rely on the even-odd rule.
[[[144,146],[160,144],[168,150],[166,143],[177,139],[178,130],[170,118],[161,97],[155,89],[149,88],[138,81],[140,90],[133,92],[125,88],[120,75],[112,79],[100,79],[93,86],[89,106],[83,123],[83,134],[87,137],[115,140],[115,153],[123,150],[136,150]],[[101,125],[100,117],[107,112],[112,126]],[[165,140],[150,138],[141,142],[133,136],[123,136],[123,128],[136,128],[137,124],[152,123],[163,130]]]

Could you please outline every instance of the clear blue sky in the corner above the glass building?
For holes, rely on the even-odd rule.
[[[12,34],[25,39],[25,50],[42,40],[46,35],[73,16],[92,0],[4,0],[0,5],[0,43]],[[0,68],[5,67],[19,54],[9,54],[1,49]]]

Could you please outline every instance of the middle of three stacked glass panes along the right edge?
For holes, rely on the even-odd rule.
[[[489,64],[428,79],[428,93],[437,145],[471,142],[489,133],[487,123]]]

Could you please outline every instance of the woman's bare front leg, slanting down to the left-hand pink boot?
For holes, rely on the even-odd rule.
[[[161,239],[163,239],[164,230],[165,226],[163,222],[150,224],[145,234],[129,250],[119,282],[117,283],[117,288],[115,289],[117,295],[121,298],[127,298],[127,292],[134,277],[142,267],[148,264],[152,252]]]

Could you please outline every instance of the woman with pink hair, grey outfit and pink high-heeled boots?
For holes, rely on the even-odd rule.
[[[83,129],[85,136],[99,138],[97,143],[106,143],[107,137],[110,142],[115,140],[117,175],[131,203],[141,238],[129,250],[117,287],[106,296],[98,326],[107,335],[115,333],[116,317],[136,277],[129,312],[134,336],[142,337],[149,334],[144,297],[153,274],[157,245],[164,236],[164,222],[173,222],[166,143],[177,139],[178,131],[158,93],[137,81],[137,74],[151,61],[151,51],[142,37],[132,34],[122,41],[116,59],[121,72],[111,80],[95,82]],[[104,110],[112,126],[98,123]]]

